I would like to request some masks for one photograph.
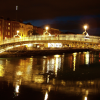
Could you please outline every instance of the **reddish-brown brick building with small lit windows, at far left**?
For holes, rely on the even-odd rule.
[[[19,22],[11,21],[9,19],[0,19],[0,41],[12,38],[19,29]]]

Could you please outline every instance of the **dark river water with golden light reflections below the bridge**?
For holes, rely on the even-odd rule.
[[[100,53],[0,58],[1,100],[100,100]]]

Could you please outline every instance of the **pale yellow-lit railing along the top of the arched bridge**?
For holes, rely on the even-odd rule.
[[[43,41],[43,40],[70,40],[70,41],[86,41],[86,42],[93,42],[93,43],[100,43],[100,37],[99,36],[85,36],[85,35],[32,35],[30,37],[22,37],[22,38],[10,38],[6,39],[0,42],[0,44],[6,44],[6,43],[14,43],[14,42],[21,42],[21,41]]]

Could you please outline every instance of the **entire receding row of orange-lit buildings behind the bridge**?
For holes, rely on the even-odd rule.
[[[27,37],[31,35],[43,35],[46,29],[33,26],[31,23],[22,23],[16,20],[0,18],[0,41],[13,38],[15,36]],[[57,35],[61,32],[59,29],[50,28],[48,32],[51,35]]]

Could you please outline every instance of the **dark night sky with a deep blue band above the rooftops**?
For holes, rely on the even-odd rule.
[[[63,32],[82,33],[87,24],[90,35],[100,35],[100,0],[0,0],[0,16]]]

